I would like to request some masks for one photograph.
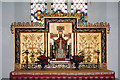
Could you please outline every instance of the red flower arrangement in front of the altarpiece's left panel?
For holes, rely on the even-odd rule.
[[[48,57],[46,57],[46,56],[44,56],[44,55],[41,55],[41,56],[39,56],[39,57],[37,57],[37,59],[39,60],[39,61],[35,61],[35,63],[37,63],[37,64],[41,64],[41,69],[42,70],[44,70],[45,68],[45,65],[48,65],[49,64],[49,62],[48,62]]]

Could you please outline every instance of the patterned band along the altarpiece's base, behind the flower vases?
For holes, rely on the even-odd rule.
[[[99,64],[79,64],[79,68],[80,69],[98,69],[98,65]],[[29,64],[29,69],[40,69],[41,68],[41,65],[39,64]],[[34,67],[33,67],[34,66]],[[75,65],[74,64],[49,64],[49,65],[46,65],[45,68],[48,68],[48,69],[70,69],[70,68],[75,68]],[[26,64],[20,64],[20,70],[25,70],[26,69]]]

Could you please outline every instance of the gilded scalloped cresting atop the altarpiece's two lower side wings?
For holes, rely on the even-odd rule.
[[[79,20],[79,19],[78,19]],[[15,33],[15,27],[22,27],[22,28],[44,28],[44,24],[41,24],[41,23],[33,23],[33,22],[14,22],[11,24],[11,27],[10,27],[10,30],[11,30],[11,33],[14,34]],[[77,25],[77,28],[98,28],[98,27],[103,27],[103,28],[107,28],[107,34],[110,33],[110,24],[105,22],[97,22],[97,23],[82,23],[80,22],[78,25]]]

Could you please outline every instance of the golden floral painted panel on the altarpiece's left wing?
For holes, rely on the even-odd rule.
[[[28,64],[34,64],[37,57],[44,53],[44,33],[20,33],[20,63],[26,64],[28,50]]]

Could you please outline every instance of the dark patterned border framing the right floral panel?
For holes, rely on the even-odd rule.
[[[103,27],[93,28],[84,27],[79,28],[76,33],[101,33],[101,63],[100,68],[107,68],[107,29]],[[77,34],[76,34],[77,36]],[[77,37],[76,37],[77,39]],[[76,40],[77,43],[77,40]],[[77,48],[77,45],[76,45]]]

